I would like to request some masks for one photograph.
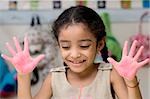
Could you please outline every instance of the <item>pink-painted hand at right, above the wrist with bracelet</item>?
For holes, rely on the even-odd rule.
[[[134,41],[131,49],[128,53],[128,42],[124,43],[122,58],[120,62],[116,62],[112,58],[108,58],[107,60],[111,63],[117,72],[124,78],[128,80],[133,80],[136,76],[138,69],[149,62],[150,59],[145,59],[141,62],[138,62],[138,58],[140,57],[143,46],[141,46],[136,53],[136,45],[137,41]]]

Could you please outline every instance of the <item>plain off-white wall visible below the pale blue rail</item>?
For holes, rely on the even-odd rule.
[[[128,40],[131,35],[138,33],[138,22],[126,22],[126,23],[112,23],[112,31],[114,36],[118,39],[121,46],[125,40]],[[143,33],[150,33],[150,24],[145,22],[143,24]],[[17,36],[20,40],[23,39],[24,33],[28,30],[28,25],[0,25],[0,51],[8,54],[5,48],[5,42],[11,42],[13,36]],[[138,72],[138,78],[140,79],[140,88],[143,95],[143,99],[149,99],[148,92],[150,91],[150,67],[144,67]]]

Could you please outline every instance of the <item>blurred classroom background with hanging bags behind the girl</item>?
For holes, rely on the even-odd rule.
[[[51,25],[66,8],[85,5],[103,19],[107,32],[109,55],[120,60],[125,40],[139,41],[145,47],[143,60],[150,57],[150,1],[149,0],[0,0],[0,53],[8,54],[5,43],[29,36],[30,53],[46,54],[45,60],[33,71],[32,92],[35,94],[49,69],[63,64]],[[16,99],[17,78],[13,66],[0,58],[0,99]],[[150,99],[150,64],[138,72],[143,99]]]

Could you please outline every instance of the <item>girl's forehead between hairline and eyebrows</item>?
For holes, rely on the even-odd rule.
[[[94,34],[82,23],[75,23],[68,26],[63,27],[60,30],[60,34],[58,37],[59,40],[84,40],[91,39],[95,40]]]

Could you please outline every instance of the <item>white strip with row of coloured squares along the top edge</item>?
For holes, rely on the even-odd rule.
[[[149,0],[0,0],[0,10],[53,10],[84,5],[93,9],[150,8]]]

